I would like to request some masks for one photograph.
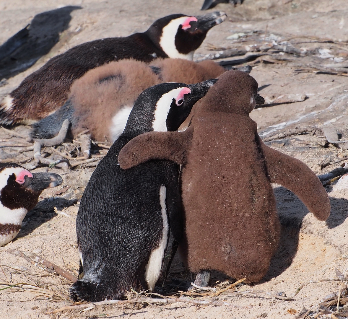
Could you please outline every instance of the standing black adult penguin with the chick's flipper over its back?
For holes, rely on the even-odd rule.
[[[144,132],[179,128],[215,82],[162,83],[140,94],[124,132],[98,164],[81,199],[76,231],[84,277],[70,290],[73,300],[118,299],[131,288],[154,288],[169,227],[181,241],[179,166],[151,161],[122,170],[118,152]]]

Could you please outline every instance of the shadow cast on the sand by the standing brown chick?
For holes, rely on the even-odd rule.
[[[299,245],[301,227],[304,226],[303,218],[310,214],[301,200],[286,188],[276,187],[274,194],[280,220],[280,239],[268,273],[261,282],[279,276],[292,264]],[[330,197],[330,203],[331,213],[325,224],[328,229],[333,229],[341,225],[348,217],[348,212],[344,209],[348,205],[348,200]]]

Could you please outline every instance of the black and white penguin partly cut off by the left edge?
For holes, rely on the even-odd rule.
[[[13,240],[26,213],[38,203],[46,188],[61,185],[54,173],[30,173],[15,163],[0,164],[0,246]]]

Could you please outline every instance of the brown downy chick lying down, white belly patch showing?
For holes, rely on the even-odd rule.
[[[69,100],[55,113],[33,124],[33,138],[55,136],[65,119],[73,136],[89,129],[96,141],[115,141],[123,132],[139,94],[164,82],[198,83],[224,72],[213,61],[195,63],[184,59],[157,59],[150,64],[135,60],[110,62],[76,80]]]

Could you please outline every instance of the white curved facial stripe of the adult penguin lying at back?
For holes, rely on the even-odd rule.
[[[188,17],[180,17],[169,22],[162,31],[161,38],[159,40],[159,45],[162,50],[170,57],[170,58],[180,58],[185,60],[193,60],[194,51],[189,54],[182,54],[175,47],[175,35],[179,25],[182,25]]]

